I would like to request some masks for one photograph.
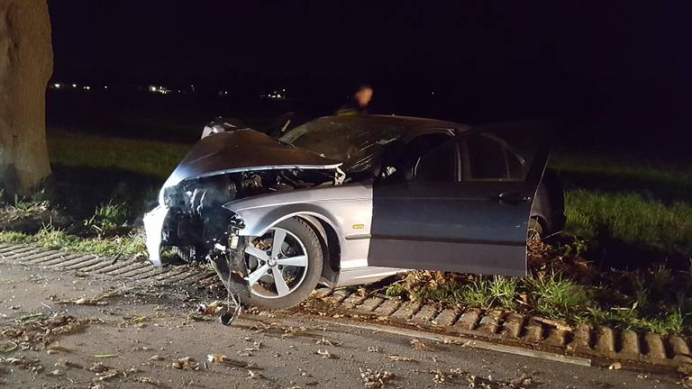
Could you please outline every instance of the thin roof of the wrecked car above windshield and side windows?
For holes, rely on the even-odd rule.
[[[386,125],[387,127],[398,127],[404,137],[411,137],[417,133],[435,129],[454,129],[458,131],[469,131],[471,126],[458,122],[448,122],[438,119],[420,118],[414,116],[399,115],[339,115],[323,116],[313,122],[331,122],[334,124],[350,124],[363,126]]]

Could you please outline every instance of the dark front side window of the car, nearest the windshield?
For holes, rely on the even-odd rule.
[[[418,159],[415,165],[416,181],[453,182],[457,180],[457,141],[439,145]]]

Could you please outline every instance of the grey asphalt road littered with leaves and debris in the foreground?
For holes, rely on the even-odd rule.
[[[575,366],[430,340],[412,344],[410,337],[301,313],[248,313],[232,327],[211,316],[190,317],[196,304],[212,301],[218,291],[161,289],[2,262],[0,284],[5,387],[682,387],[678,375]],[[80,300],[109,291],[113,295],[98,305]],[[37,313],[46,316],[28,316]],[[59,320],[50,319],[54,313],[90,322],[50,335],[66,328],[58,326],[47,338],[44,327]],[[178,362],[185,357],[195,362]],[[90,371],[95,363],[109,370]]]

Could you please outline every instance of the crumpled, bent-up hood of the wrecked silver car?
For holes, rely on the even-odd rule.
[[[216,133],[199,140],[173,170],[163,187],[178,185],[188,178],[246,170],[329,169],[339,166],[339,161],[279,143],[262,132],[243,129]]]

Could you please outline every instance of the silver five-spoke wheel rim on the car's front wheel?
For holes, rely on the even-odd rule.
[[[303,285],[307,275],[307,251],[296,234],[274,227],[245,248],[250,293],[261,298],[280,298]]]

